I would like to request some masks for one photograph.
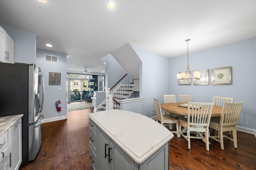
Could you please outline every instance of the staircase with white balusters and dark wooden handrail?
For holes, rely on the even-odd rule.
[[[106,94],[106,96],[113,96],[112,109],[120,109],[119,100],[128,99],[134,92],[133,87],[133,80],[128,76],[128,74],[125,74],[112,88],[110,88],[110,92],[109,94]],[[106,91],[106,93],[108,92]],[[106,98],[106,100],[108,101],[108,98]],[[97,108],[98,111],[106,110],[106,100],[104,100]]]

